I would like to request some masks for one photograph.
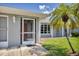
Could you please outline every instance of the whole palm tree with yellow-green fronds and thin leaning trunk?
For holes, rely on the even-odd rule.
[[[79,27],[79,18],[76,16],[76,8],[73,4],[60,4],[53,12],[51,12],[50,25],[56,29],[64,27],[65,36],[73,53],[74,48],[69,40],[67,29],[75,29]]]

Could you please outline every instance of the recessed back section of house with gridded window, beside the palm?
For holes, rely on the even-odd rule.
[[[64,28],[57,31],[54,26],[49,25],[49,19],[50,17],[46,17],[39,21],[40,38],[63,37],[65,35]]]

